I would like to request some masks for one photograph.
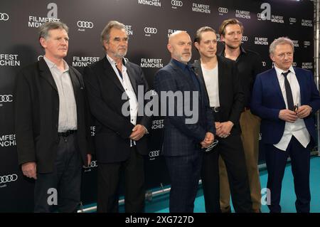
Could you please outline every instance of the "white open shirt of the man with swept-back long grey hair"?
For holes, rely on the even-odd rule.
[[[134,93],[134,89],[132,88],[132,84],[130,82],[130,78],[129,75],[127,73],[127,68],[126,66],[123,64],[122,65],[122,78],[119,75],[119,71],[117,70],[117,64],[116,62],[110,58],[110,56],[107,55],[107,60],[109,60],[114,73],[117,74],[117,77],[120,81],[120,83],[122,84],[122,87],[124,88],[125,93],[127,93],[128,97],[129,97],[129,105],[130,105],[130,122],[132,123],[132,125],[136,125],[137,124],[137,115],[138,115],[138,101],[137,101],[137,96]],[[124,58],[124,61],[127,61]],[[136,142],[134,140],[130,140],[130,147],[132,147],[133,145],[135,145]]]

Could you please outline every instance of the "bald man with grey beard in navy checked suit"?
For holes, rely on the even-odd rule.
[[[162,154],[171,179],[170,212],[193,212],[202,149],[213,143],[215,133],[206,91],[189,64],[191,45],[185,31],[171,34],[167,45],[171,61],[154,80],[161,111],[166,110]]]

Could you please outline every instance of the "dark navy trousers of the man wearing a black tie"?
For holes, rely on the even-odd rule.
[[[265,162],[267,164],[268,181],[267,188],[270,189],[271,203],[268,205],[271,213],[280,213],[281,189],[284,169],[287,158],[290,156],[292,174],[294,176],[294,191],[297,196],[295,203],[298,213],[310,212],[310,152],[314,143],[311,142],[306,148],[292,136],[286,151],[266,144]]]

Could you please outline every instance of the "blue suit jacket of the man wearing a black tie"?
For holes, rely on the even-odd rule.
[[[302,68],[294,68],[294,72],[300,86],[301,105],[311,106],[312,113],[315,113],[320,107],[320,96],[312,73]],[[257,75],[252,91],[251,109],[262,119],[262,142],[277,144],[282,138],[285,126],[284,120],[279,119],[279,112],[286,109],[286,105],[274,68]],[[304,123],[311,137],[317,141],[313,116],[311,114],[305,117]]]

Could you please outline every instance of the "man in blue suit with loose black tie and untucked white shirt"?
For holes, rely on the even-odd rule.
[[[252,112],[262,118],[271,213],[281,212],[282,179],[289,156],[297,212],[310,211],[310,151],[316,141],[314,113],[319,110],[320,97],[312,73],[292,67],[293,56],[289,38],[275,39],[270,45],[274,68],[257,75],[252,91]]]

